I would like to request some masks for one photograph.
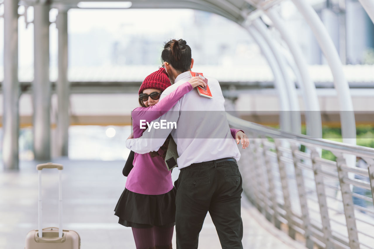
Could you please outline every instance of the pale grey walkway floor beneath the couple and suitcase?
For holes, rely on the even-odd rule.
[[[135,249],[131,228],[117,223],[114,206],[125,187],[123,161],[54,162],[64,165],[63,228],[76,230],[82,249]],[[0,173],[0,249],[25,246],[28,231],[37,229],[38,174],[36,164],[21,162],[20,170]],[[58,174],[43,170],[43,227],[58,225]],[[243,197],[244,249],[304,248],[261,217]],[[261,225],[260,225],[261,224]],[[173,238],[175,247],[175,236]],[[200,233],[199,249],[221,248],[209,216]]]

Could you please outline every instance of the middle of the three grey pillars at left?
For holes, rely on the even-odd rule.
[[[36,160],[50,159],[49,9],[34,5],[33,132]]]

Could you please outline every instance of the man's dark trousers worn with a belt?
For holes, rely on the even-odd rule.
[[[242,177],[234,161],[202,162],[181,169],[177,187],[177,249],[197,249],[206,213],[223,249],[243,249]]]

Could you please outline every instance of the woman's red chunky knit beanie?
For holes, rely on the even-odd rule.
[[[165,68],[160,68],[156,72],[153,72],[145,77],[140,86],[139,94],[141,94],[145,89],[157,89],[163,91],[170,85],[171,83],[168,74],[166,74]]]

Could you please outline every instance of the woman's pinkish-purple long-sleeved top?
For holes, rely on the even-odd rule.
[[[134,138],[140,137],[145,129],[140,128],[140,120],[151,122],[169,111],[184,94],[193,88],[186,82],[180,85],[172,93],[161,99],[156,105],[150,107],[138,107],[131,113]],[[144,123],[144,122],[143,122]],[[235,138],[237,129],[230,129]],[[163,150],[158,150],[159,155]],[[166,167],[165,161],[161,156],[151,157],[149,153],[134,155],[134,168],[131,169],[127,181],[126,189],[139,194],[165,194],[173,188],[171,172]]]

